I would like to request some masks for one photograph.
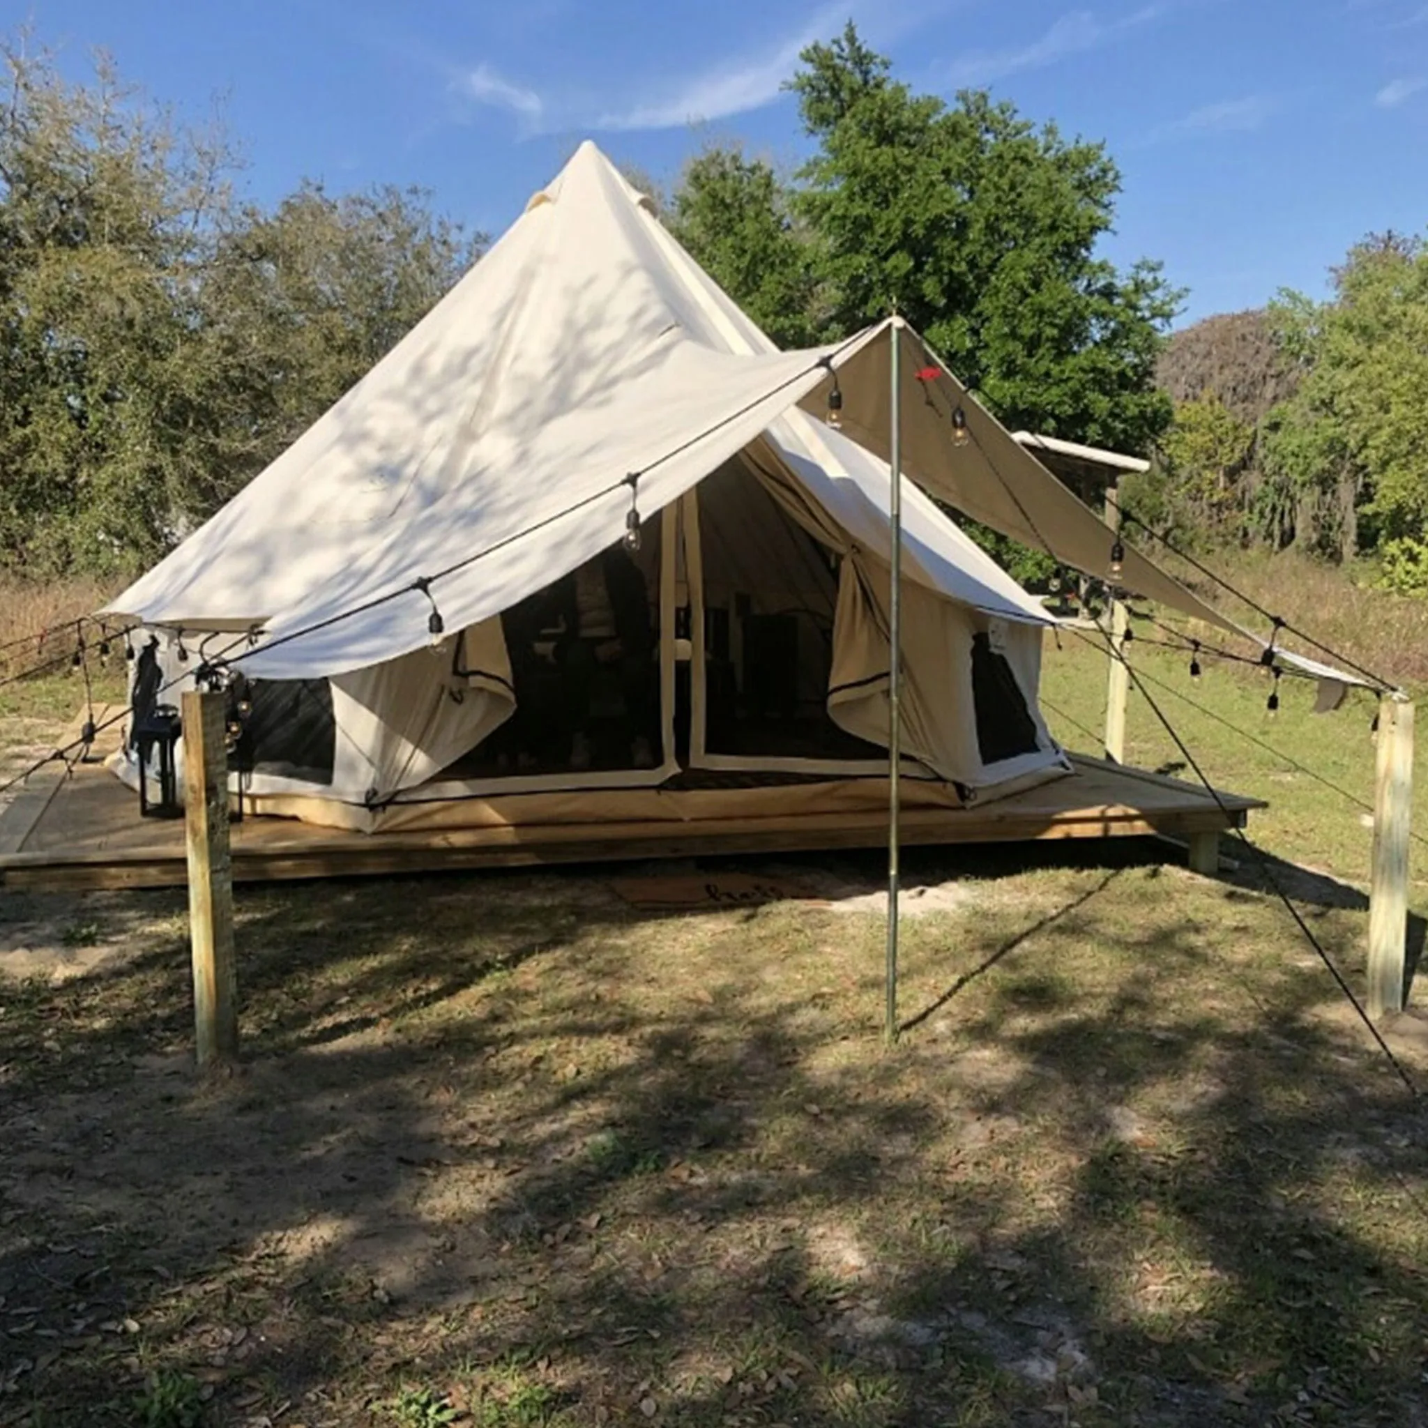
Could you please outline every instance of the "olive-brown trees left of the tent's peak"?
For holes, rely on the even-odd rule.
[[[470,257],[424,196],[241,204],[220,130],[0,44],[0,563],[130,573],[361,376]]]

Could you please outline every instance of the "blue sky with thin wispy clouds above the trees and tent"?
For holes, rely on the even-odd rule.
[[[920,90],[1104,139],[1107,251],[1164,260],[1184,320],[1428,227],[1428,0],[0,0],[67,70],[103,46],[187,117],[220,100],[256,197],[417,183],[493,233],[587,136],[665,183],[710,140],[794,167],[780,83],[850,16]]]

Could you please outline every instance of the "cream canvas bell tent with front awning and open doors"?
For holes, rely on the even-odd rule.
[[[583,144],[110,605],[133,733],[218,671],[250,807],[368,831],[885,803],[894,391],[922,487],[1104,567],[1105,526],[915,333],[778,351]],[[1071,773],[1037,707],[1045,610],[911,484],[900,551],[905,801]]]

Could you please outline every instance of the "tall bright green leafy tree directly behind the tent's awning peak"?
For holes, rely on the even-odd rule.
[[[1170,420],[1154,367],[1178,294],[1152,263],[1098,257],[1120,190],[1104,146],[985,93],[915,94],[851,24],[791,89],[817,143],[794,183],[715,149],[675,197],[731,294],[781,341],[895,308],[1008,424],[1145,450]]]

